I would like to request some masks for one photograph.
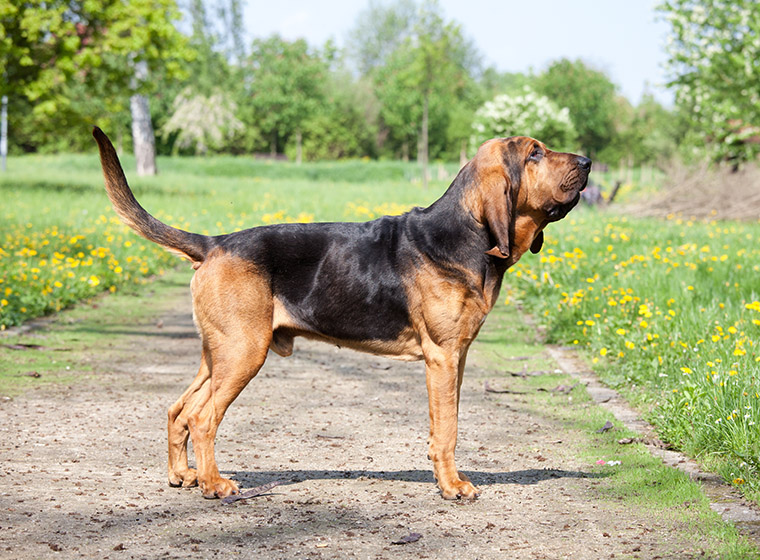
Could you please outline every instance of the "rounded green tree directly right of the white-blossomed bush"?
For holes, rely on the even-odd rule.
[[[582,150],[596,156],[615,135],[615,84],[582,61],[554,62],[533,82],[536,92],[567,107]]]

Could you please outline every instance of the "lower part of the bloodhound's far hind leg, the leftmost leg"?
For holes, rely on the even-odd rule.
[[[203,389],[210,378],[211,370],[204,350],[195,380],[169,408],[169,484],[171,486],[195,486],[198,482],[195,469],[189,468],[187,464],[187,440],[190,436],[187,417],[198,401],[205,400]]]

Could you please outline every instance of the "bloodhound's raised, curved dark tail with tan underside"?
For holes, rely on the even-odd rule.
[[[98,127],[93,128],[92,135],[100,149],[100,164],[103,167],[108,198],[122,221],[145,239],[194,263],[202,263],[212,248],[212,238],[173,228],[148,214],[132,194],[119,156],[108,136]]]

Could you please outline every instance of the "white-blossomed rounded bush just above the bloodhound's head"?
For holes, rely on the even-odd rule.
[[[497,136],[532,136],[553,150],[571,150],[577,133],[570,112],[525,86],[515,95],[497,95],[475,113],[470,146]]]

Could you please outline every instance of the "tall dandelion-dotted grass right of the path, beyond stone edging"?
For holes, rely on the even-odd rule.
[[[552,342],[574,345],[661,437],[760,496],[759,224],[578,212],[508,272]]]

